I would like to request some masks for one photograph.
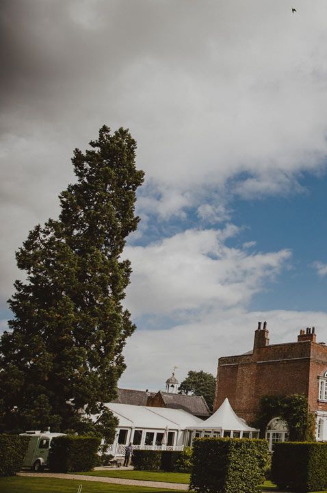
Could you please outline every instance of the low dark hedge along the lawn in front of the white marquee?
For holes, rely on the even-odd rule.
[[[165,472],[190,472],[192,451],[133,451],[135,470],[164,470]]]

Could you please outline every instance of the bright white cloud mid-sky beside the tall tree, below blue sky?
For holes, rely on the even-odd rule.
[[[244,306],[280,272],[288,250],[249,254],[225,242],[239,228],[189,229],[146,247],[127,247],[133,266],[127,305],[133,316]]]

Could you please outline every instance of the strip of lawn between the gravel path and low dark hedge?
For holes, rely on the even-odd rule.
[[[165,483],[189,484],[187,472],[164,471],[135,471],[135,470],[95,470],[91,472],[77,472],[86,476],[118,477],[124,479],[138,479],[139,481],[164,481]]]

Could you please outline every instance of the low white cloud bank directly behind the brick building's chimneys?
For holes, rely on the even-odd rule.
[[[317,342],[327,342],[327,314],[322,312],[246,312],[214,308],[194,323],[170,330],[135,331],[125,348],[123,388],[164,390],[173,366],[181,382],[189,370],[216,374],[218,358],[252,349],[259,320],[267,320],[270,344],[296,342],[300,329],[315,326]]]

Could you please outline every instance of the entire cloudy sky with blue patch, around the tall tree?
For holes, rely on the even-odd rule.
[[[105,123],[130,129],[146,173],[120,386],[215,373],[258,320],[273,343],[312,325],[327,342],[326,0],[0,9],[1,330],[14,251],[57,216],[73,149]]]

